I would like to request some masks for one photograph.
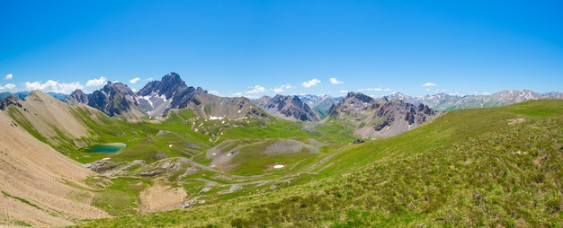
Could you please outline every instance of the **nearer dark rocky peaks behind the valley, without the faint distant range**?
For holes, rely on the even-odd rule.
[[[305,101],[301,100],[304,99]],[[338,102],[336,102],[338,101]],[[84,94],[75,91],[68,103],[84,103],[109,116],[160,118],[171,109],[189,109],[201,118],[269,118],[319,122],[324,119],[354,119],[353,127],[362,137],[395,136],[432,119],[437,113],[427,106],[417,108],[405,102],[383,102],[362,93],[345,98],[330,96],[264,96],[256,101],[244,97],[219,97],[200,87],[187,86],[180,75],[170,73],[160,81],[147,83],[133,92],[123,83],[107,83],[99,91]],[[361,102],[365,102],[362,104]],[[356,110],[363,106],[363,118]],[[352,110],[352,111],[351,111]],[[266,115],[267,113],[267,115]],[[353,122],[348,121],[348,122]]]

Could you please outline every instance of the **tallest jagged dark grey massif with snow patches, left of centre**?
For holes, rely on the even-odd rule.
[[[76,90],[65,101],[87,104],[111,117],[161,118],[167,110],[189,108],[201,118],[267,118],[246,98],[219,97],[200,87],[187,86],[175,73],[147,83],[139,92],[133,92],[126,84],[109,82],[92,94]]]

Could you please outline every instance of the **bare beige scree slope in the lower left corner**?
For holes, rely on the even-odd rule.
[[[82,180],[94,172],[17,127],[4,111],[0,133],[0,224],[65,226],[109,216],[89,205],[93,196]]]

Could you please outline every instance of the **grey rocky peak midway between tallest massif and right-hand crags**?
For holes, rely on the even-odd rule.
[[[320,116],[298,96],[276,95],[273,98],[263,97],[256,104],[274,117],[299,121],[320,121]]]

